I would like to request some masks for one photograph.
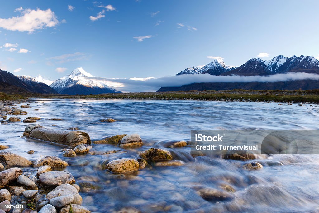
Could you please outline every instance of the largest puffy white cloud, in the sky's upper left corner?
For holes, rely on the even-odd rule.
[[[51,9],[36,10],[18,8],[20,16],[11,17],[8,19],[0,19],[0,28],[12,31],[28,31],[33,33],[36,30],[54,27],[59,24],[56,15]],[[20,10],[21,9],[21,10]]]

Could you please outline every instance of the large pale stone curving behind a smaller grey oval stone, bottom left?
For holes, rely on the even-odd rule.
[[[70,185],[70,184],[62,184],[57,186],[55,189],[53,189],[51,192],[49,192],[46,196],[48,200],[51,200],[55,197],[64,196],[71,194],[73,195],[73,201],[72,204],[82,204],[82,197],[79,195],[78,190]]]

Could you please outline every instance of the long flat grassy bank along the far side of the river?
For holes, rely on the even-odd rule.
[[[34,98],[34,97],[32,97]],[[245,99],[253,101],[315,102],[319,103],[319,90],[226,90],[226,91],[171,91],[109,93],[99,95],[42,95],[37,98],[61,99],[193,99],[226,100]]]

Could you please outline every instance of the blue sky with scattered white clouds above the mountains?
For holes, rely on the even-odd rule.
[[[1,1],[0,69],[51,80],[76,67],[158,78],[208,56],[233,66],[259,53],[318,57],[318,8],[315,0]]]

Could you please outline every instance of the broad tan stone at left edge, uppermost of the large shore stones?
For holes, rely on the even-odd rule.
[[[32,164],[26,158],[11,152],[0,152],[0,162],[7,166],[30,166]]]

